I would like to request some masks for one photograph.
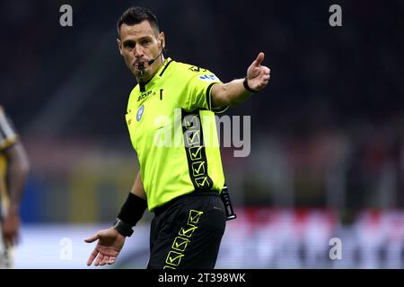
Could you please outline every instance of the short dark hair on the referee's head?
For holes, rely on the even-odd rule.
[[[150,22],[150,25],[157,33],[160,32],[159,22],[157,21],[157,17],[154,15],[154,13],[145,7],[134,6],[127,9],[127,11],[125,11],[122,16],[119,17],[117,22],[118,36],[120,37],[119,31],[122,24],[127,24],[129,26],[136,25],[140,22],[144,22],[145,20]]]

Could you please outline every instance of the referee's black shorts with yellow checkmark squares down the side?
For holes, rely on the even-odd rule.
[[[148,269],[212,269],[226,215],[218,192],[196,191],[154,210]]]

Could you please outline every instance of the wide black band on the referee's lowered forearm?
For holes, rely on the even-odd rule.
[[[118,220],[117,222],[115,222],[114,228],[124,236],[132,235],[129,230],[131,230],[132,227],[135,226],[136,223],[142,218],[143,213],[145,213],[146,207],[147,201],[145,201],[145,199],[136,196],[130,192],[127,196],[127,201],[125,202],[125,204],[122,205],[122,208],[120,209]]]

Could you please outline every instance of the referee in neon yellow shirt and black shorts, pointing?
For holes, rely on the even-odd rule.
[[[120,55],[138,83],[126,120],[140,171],[115,224],[85,239],[98,240],[87,265],[113,264],[148,208],[155,216],[147,268],[214,268],[226,221],[215,112],[265,88],[264,54],[245,78],[221,83],[206,69],[164,58],[164,33],[148,9],[129,8],[117,26]]]

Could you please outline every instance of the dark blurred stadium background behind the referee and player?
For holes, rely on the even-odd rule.
[[[59,25],[62,4],[73,27]],[[135,4],[159,18],[168,57],[226,82],[259,51],[272,69],[265,91],[227,112],[251,116],[251,152],[223,148],[239,218],[217,267],[404,267],[404,1],[3,0],[0,104],[31,159],[17,268],[86,267],[83,239],[110,226],[132,186],[136,82],[115,24]],[[331,4],[342,27],[329,26]],[[151,218],[114,267],[145,267]]]

